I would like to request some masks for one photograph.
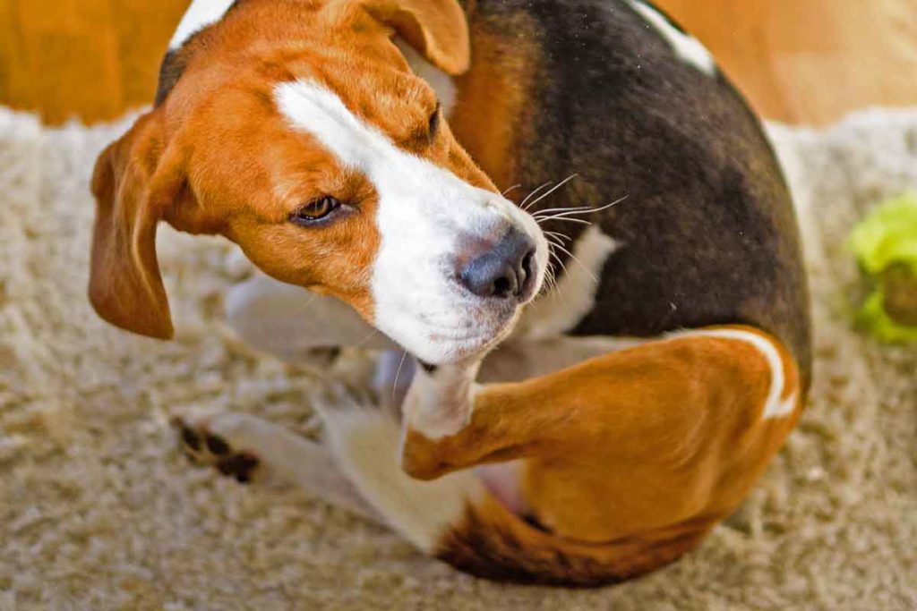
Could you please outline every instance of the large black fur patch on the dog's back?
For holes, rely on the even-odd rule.
[[[627,196],[582,217],[622,246],[572,333],[750,324],[790,347],[807,382],[809,298],[790,192],[731,83],[680,60],[624,0],[481,0],[475,11],[495,35],[508,36],[500,24],[514,14],[540,30],[531,127],[509,184],[579,175],[538,210]],[[547,228],[575,239],[584,227]]]

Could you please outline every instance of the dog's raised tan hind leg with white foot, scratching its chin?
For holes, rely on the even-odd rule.
[[[658,507],[659,490],[677,499],[659,511],[683,517],[725,486],[716,489],[720,511],[735,507],[779,448],[799,396],[782,345],[742,327],[680,333],[521,383],[476,386],[473,364],[421,367],[405,400],[402,464],[431,479],[526,459],[529,500],[554,523],[571,495],[608,486],[637,491],[616,501],[634,510],[619,524]],[[590,497],[570,507],[601,505]],[[588,522],[569,518],[568,527]]]

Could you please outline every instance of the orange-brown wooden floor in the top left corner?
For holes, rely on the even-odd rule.
[[[110,119],[149,104],[188,0],[0,0],[0,104]]]

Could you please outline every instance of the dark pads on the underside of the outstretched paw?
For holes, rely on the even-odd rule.
[[[178,432],[182,453],[193,464],[215,467],[221,474],[248,484],[260,466],[257,455],[249,450],[237,450],[226,438],[211,431],[210,419],[186,420],[175,417],[172,427]]]

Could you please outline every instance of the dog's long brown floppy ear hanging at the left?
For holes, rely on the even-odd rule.
[[[184,184],[177,157],[177,150],[165,147],[154,111],[105,148],[92,181],[89,300],[105,321],[160,339],[171,338],[172,323],[156,258],[156,225]]]

